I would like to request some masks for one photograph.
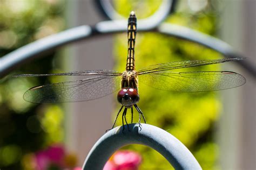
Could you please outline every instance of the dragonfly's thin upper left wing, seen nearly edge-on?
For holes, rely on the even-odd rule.
[[[113,70],[86,70],[78,72],[69,72],[69,73],[56,73],[56,74],[19,74],[14,75],[13,77],[39,77],[39,76],[53,76],[53,75],[112,75],[118,76],[122,73],[113,71]]]

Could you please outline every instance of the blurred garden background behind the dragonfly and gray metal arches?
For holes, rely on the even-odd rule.
[[[128,18],[133,10],[140,19],[152,15],[161,1],[116,0],[112,4],[124,17]],[[250,0],[183,0],[177,2],[175,12],[165,22],[220,38],[256,65],[255,6],[255,1]],[[92,0],[1,0],[0,57],[51,34],[102,20]],[[91,69],[122,72],[126,56],[126,32],[99,36],[44,54],[10,75]],[[156,32],[137,33],[135,57],[138,70],[163,62],[223,58],[212,49]],[[138,106],[147,123],[178,138],[203,169],[255,169],[255,79],[237,63],[193,69],[230,70],[244,75],[247,83],[204,93],[167,93],[140,83]],[[82,166],[91,147],[111,128],[120,108],[116,94],[88,102],[32,104],[23,100],[27,89],[81,77],[17,79],[10,75],[0,79],[0,169]],[[117,125],[121,124],[118,120]],[[140,169],[172,169],[164,157],[149,147],[130,145],[122,149],[142,157]],[[42,165],[44,159],[52,162]]]

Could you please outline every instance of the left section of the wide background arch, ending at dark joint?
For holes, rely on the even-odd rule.
[[[91,36],[90,26],[83,25],[31,42],[0,58],[0,77],[21,66],[26,61],[37,59],[56,47]]]

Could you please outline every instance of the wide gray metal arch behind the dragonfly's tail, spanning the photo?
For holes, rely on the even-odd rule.
[[[0,77],[7,75],[11,70],[23,65],[29,60],[37,59],[42,55],[42,53],[51,51],[52,49],[71,42],[88,39],[92,36],[124,32],[127,29],[126,26],[127,23],[124,20],[100,22],[95,26],[83,25],[75,27],[32,42],[0,58]],[[184,26],[164,23],[158,26],[157,29],[149,30],[145,25],[140,25],[138,23],[138,31],[157,31],[168,36],[197,42],[198,44],[220,52],[227,58],[240,56],[233,50],[233,48],[226,44],[226,42],[207,36],[206,34],[198,31],[188,29]],[[238,62],[238,64],[244,67],[251,75],[256,77],[256,67],[253,66],[250,61],[242,60],[241,62]]]

